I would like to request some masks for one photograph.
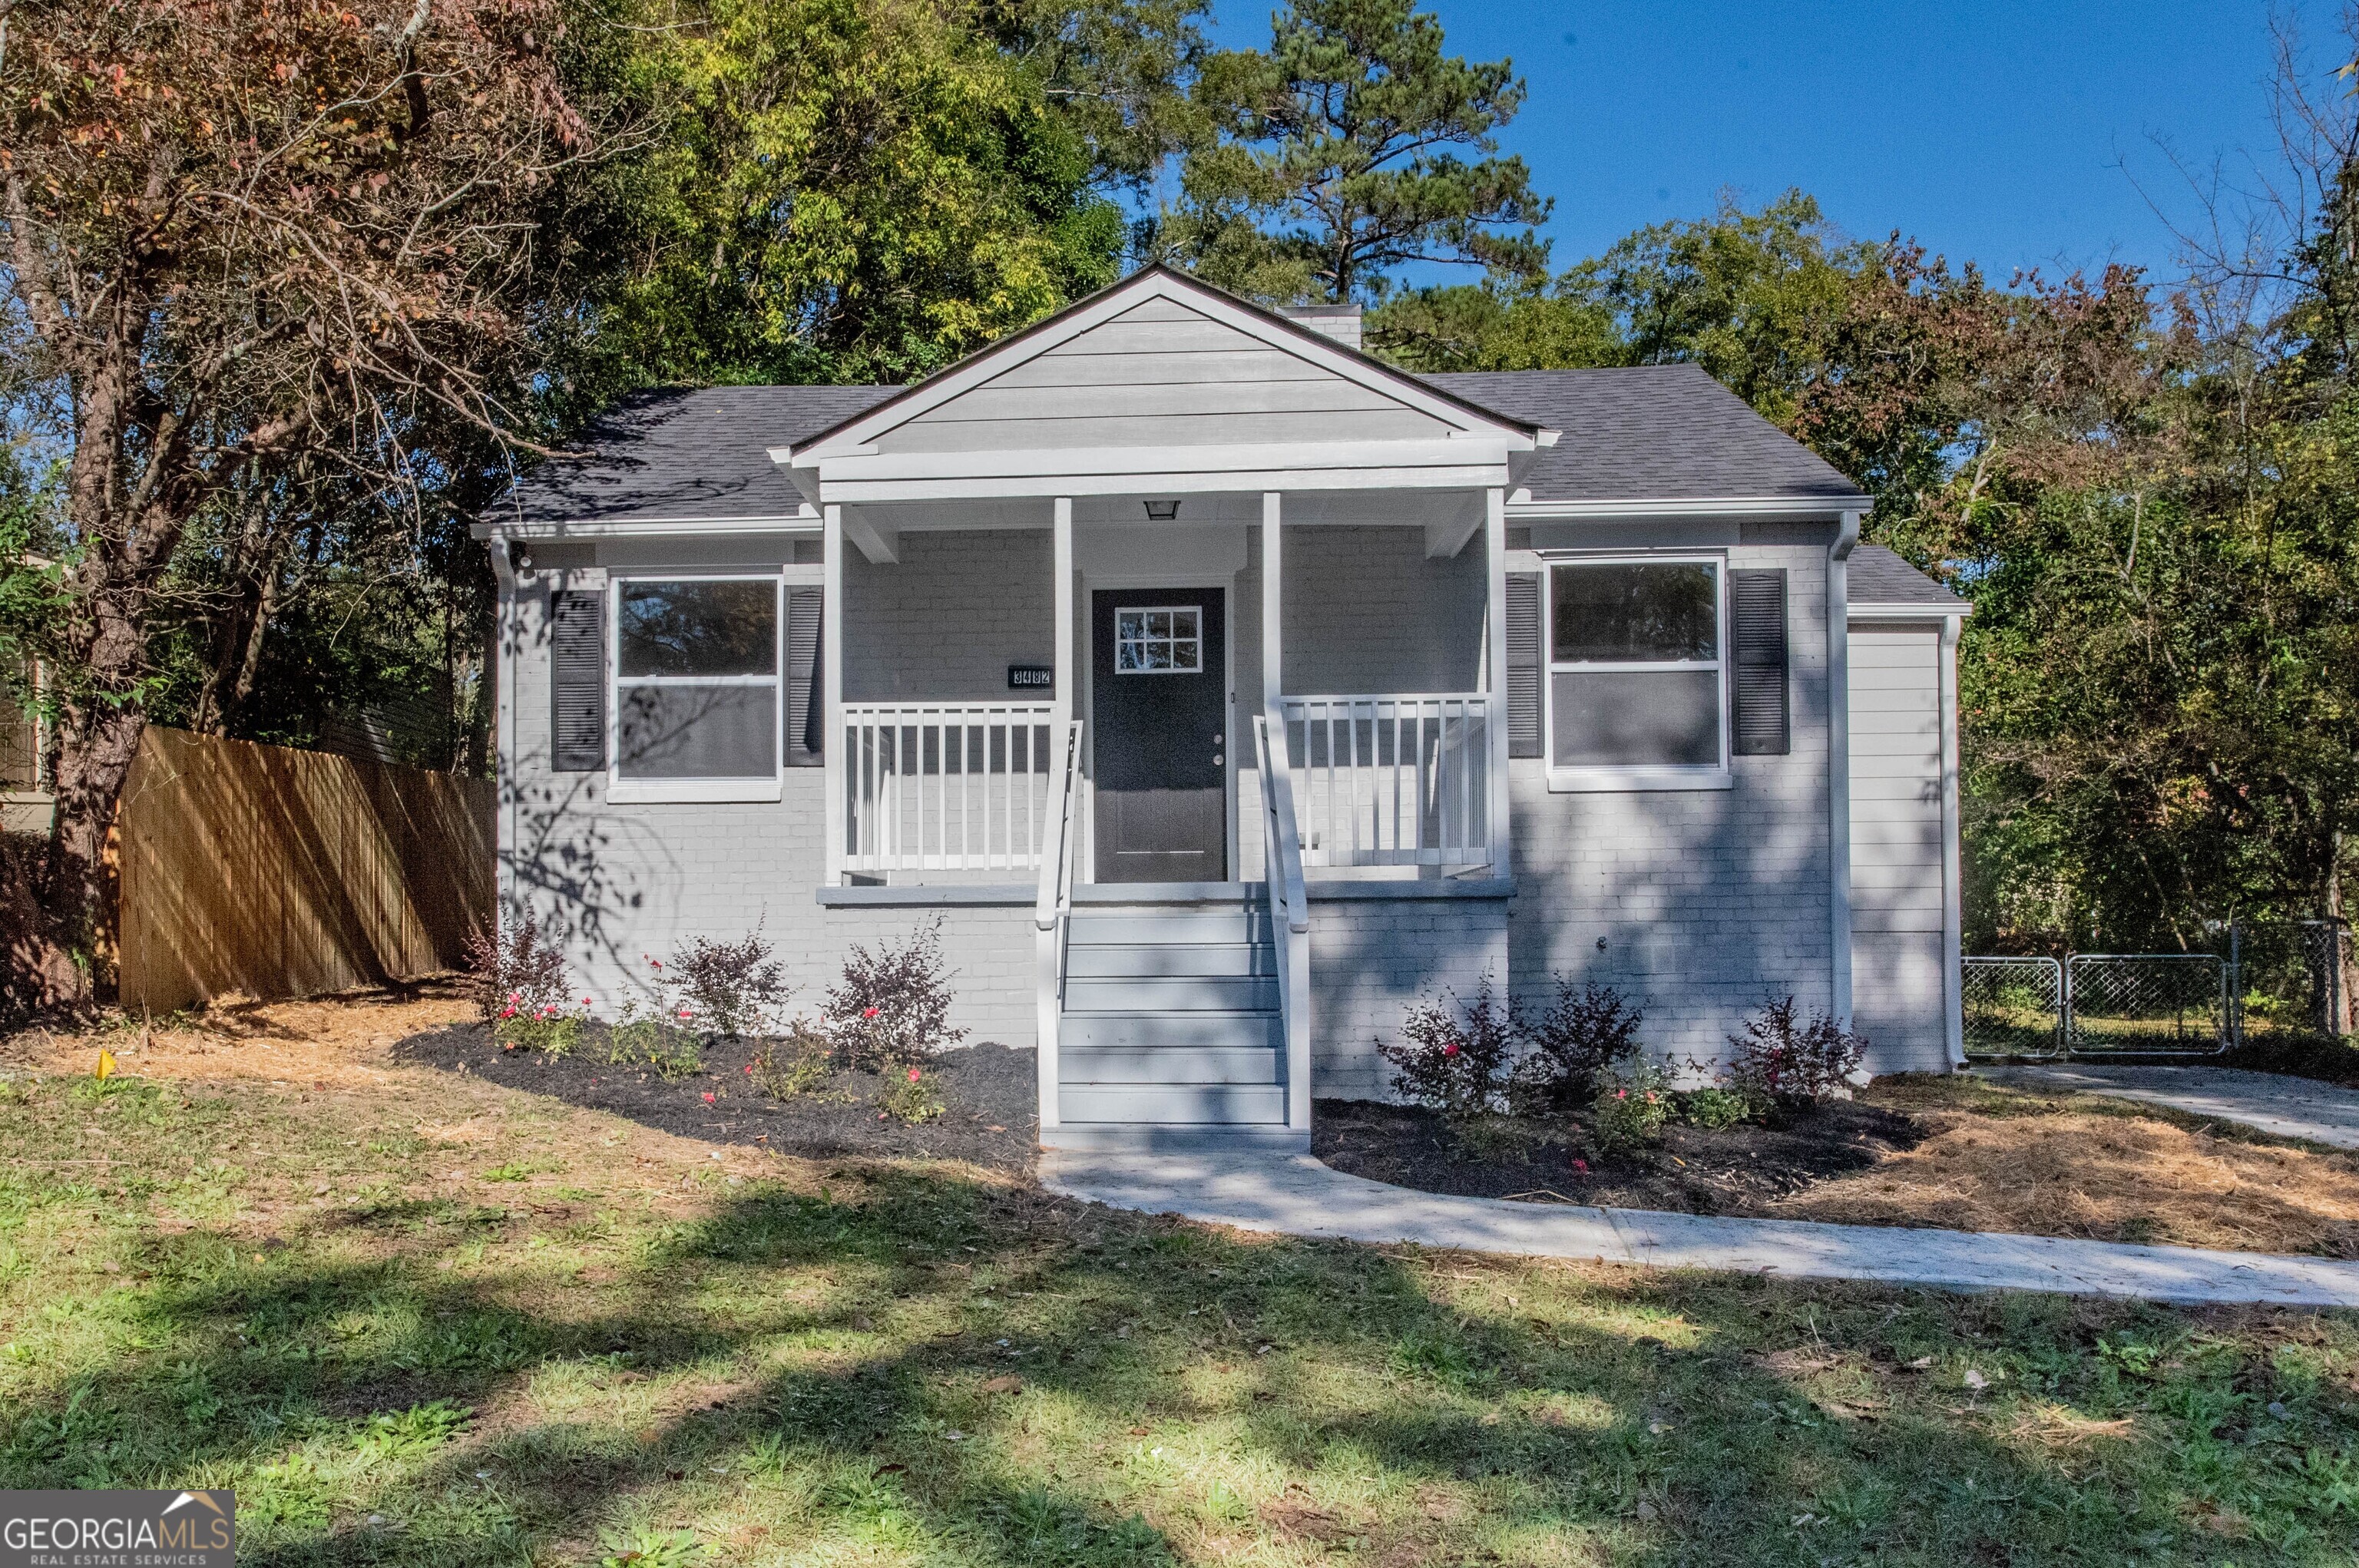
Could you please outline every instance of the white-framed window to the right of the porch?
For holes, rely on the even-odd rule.
[[[1727,573],[1717,556],[1548,564],[1548,783],[1729,783]]]

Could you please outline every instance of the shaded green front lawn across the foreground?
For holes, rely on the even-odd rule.
[[[2359,1542],[2347,1313],[1257,1240],[274,1040],[5,1085],[0,1485],[229,1485],[269,1566]]]

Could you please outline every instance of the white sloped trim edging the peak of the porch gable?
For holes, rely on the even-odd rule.
[[[1267,349],[1290,354],[1328,375],[1347,380],[1356,387],[1366,387],[1380,396],[1387,396],[1404,408],[1413,408],[1441,424],[1451,427],[1465,436],[1481,436],[1493,441],[1505,441],[1510,450],[1536,450],[1540,446],[1555,443],[1555,431],[1533,431],[1526,424],[1512,422],[1507,417],[1484,417],[1479,410],[1413,380],[1378,365],[1364,354],[1354,354],[1342,344],[1290,321],[1267,316],[1229,295],[1196,283],[1182,274],[1163,266],[1151,266],[1135,271],[1121,283],[1106,288],[1090,299],[1066,309],[1062,316],[1050,316],[1040,325],[1003,340],[988,349],[972,354],[958,365],[944,370],[929,382],[920,382],[911,391],[889,398],[880,408],[873,408],[845,424],[833,434],[821,434],[819,441],[802,448],[771,448],[771,460],[793,469],[821,467],[835,457],[873,455],[873,441],[889,429],[941,408],[958,396],[974,391],[984,382],[991,382],[1007,370],[1029,363],[1052,349],[1059,349],[1076,337],[1106,325],[1116,316],[1125,316],[1149,299],[1168,299],[1184,309],[1198,311],[1210,321],[1217,321],[1246,337],[1253,337]],[[861,448],[868,448],[863,453]],[[974,453],[979,455],[979,453]]]

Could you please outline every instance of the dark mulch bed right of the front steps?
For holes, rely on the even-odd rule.
[[[1838,1101],[1779,1108],[1767,1125],[1670,1127],[1661,1148],[1599,1160],[1578,1129],[1500,1122],[1460,1137],[1434,1111],[1359,1099],[1323,1099],[1312,1115],[1312,1153],[1371,1181],[1684,1214],[1772,1212],[1767,1205],[1779,1198],[1866,1170],[1923,1137],[1908,1115]],[[1585,1172],[1576,1158],[1588,1162]]]

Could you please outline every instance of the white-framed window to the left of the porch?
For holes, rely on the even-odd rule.
[[[616,578],[609,797],[778,799],[783,667],[783,578]]]

